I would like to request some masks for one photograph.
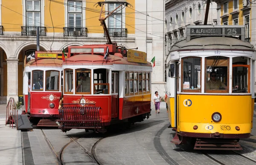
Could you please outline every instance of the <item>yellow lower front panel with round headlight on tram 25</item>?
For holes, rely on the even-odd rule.
[[[250,95],[180,95],[178,132],[250,135],[251,101]],[[221,114],[220,122],[212,120],[215,112]],[[197,130],[193,129],[195,125]],[[236,126],[240,130],[236,130]]]

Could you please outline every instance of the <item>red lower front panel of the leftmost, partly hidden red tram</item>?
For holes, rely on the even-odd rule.
[[[58,106],[61,93],[38,93],[30,92],[30,113],[31,117],[58,117]],[[26,98],[27,99],[27,98]],[[51,108],[50,104],[54,107]],[[26,109],[27,110],[27,109]]]

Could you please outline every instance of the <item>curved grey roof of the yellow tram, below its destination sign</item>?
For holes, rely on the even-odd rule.
[[[226,50],[247,50],[255,51],[252,44],[231,37],[194,37],[190,41],[177,41],[171,48],[173,51],[185,51],[196,49],[226,49]]]

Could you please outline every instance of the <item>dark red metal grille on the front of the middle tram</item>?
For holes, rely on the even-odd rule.
[[[64,106],[59,109],[59,128],[69,129],[101,129],[100,107]]]

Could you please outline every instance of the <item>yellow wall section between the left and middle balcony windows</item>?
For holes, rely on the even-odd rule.
[[[47,27],[47,32],[53,32],[52,22],[54,26],[54,32],[56,33],[63,33],[63,27],[67,27],[65,25],[65,8],[63,5],[64,0],[55,0],[57,2],[51,2],[51,14],[52,20],[50,15],[50,1],[45,0],[45,7],[44,7],[44,24],[42,26]],[[62,4],[61,4],[62,3]],[[49,28],[51,27],[51,28]]]

